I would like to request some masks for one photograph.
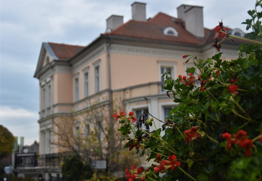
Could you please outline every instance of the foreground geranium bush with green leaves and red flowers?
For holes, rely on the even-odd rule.
[[[262,7],[261,1],[257,6]],[[248,37],[261,38],[261,12],[248,13],[252,21],[246,24],[253,30]],[[225,38],[244,39],[228,34],[222,22],[215,31],[218,37],[212,46],[218,51]],[[129,140],[125,147],[155,161],[148,168],[132,165],[126,169],[129,181],[262,180],[262,43],[244,41],[252,44],[241,44],[237,59],[222,60],[222,53],[207,60],[185,54],[183,58],[189,57],[186,62],[192,60],[196,67],[186,71],[189,77],[173,79],[170,72],[163,74],[167,96],[173,95],[178,106],[165,121],[148,110],[145,113],[151,118],[145,120],[141,115],[139,122],[156,130],[148,133],[132,124],[133,112],[113,115]],[[163,122],[163,136],[155,120]]]

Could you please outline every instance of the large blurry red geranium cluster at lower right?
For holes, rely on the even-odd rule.
[[[232,150],[232,144],[239,145],[241,148],[244,149],[245,155],[250,156],[251,155],[251,148],[253,147],[253,141],[252,139],[247,138],[247,132],[243,130],[237,131],[236,135],[233,135],[234,138],[232,138],[232,135],[228,132],[222,134],[222,138],[227,140],[226,148],[228,150]]]

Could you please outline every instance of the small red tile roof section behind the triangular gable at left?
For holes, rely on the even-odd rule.
[[[77,45],[51,43],[51,42],[48,43],[59,60],[67,60],[71,58],[73,55],[77,54],[77,52],[81,51],[85,47],[85,46],[77,46]]]

